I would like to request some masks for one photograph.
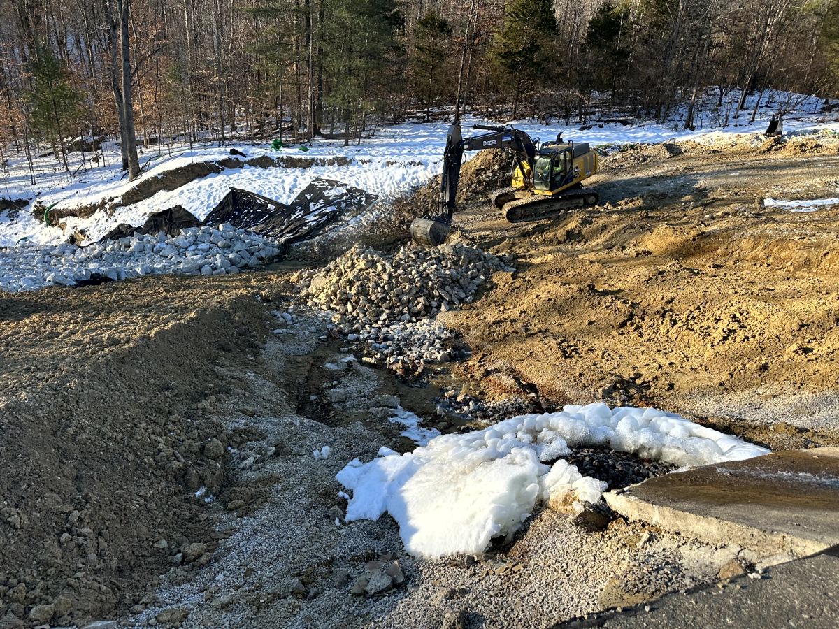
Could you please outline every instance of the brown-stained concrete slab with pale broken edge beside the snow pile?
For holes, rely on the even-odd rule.
[[[708,543],[804,557],[839,544],[839,448],[705,465],[604,497],[633,521]]]

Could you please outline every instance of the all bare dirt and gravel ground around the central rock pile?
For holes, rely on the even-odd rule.
[[[453,234],[516,271],[440,316],[472,355],[416,382],[349,360],[360,348],[301,307],[294,260],[0,296],[0,626],[541,627],[769,567],[549,510],[480,557],[416,559],[389,517],[336,523],[335,474],[413,447],[371,408],[437,425],[452,389],[839,444],[839,210],[758,203],[836,196],[836,148],[800,144],[632,148],[590,182],[603,205],[517,225],[482,194],[507,173],[479,156]],[[404,584],[352,595],[377,558]]]

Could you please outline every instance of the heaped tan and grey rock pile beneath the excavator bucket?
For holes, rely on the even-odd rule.
[[[374,358],[401,369],[451,360],[444,346],[451,332],[433,318],[471,304],[499,270],[513,271],[498,257],[460,243],[407,245],[392,254],[357,246],[297,280],[307,304],[331,312],[347,340],[366,342]]]

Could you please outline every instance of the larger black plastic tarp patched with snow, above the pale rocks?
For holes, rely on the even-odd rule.
[[[231,188],[204,224],[230,223],[290,244],[314,237],[347,211],[362,211],[377,198],[333,179],[315,179],[289,205]]]

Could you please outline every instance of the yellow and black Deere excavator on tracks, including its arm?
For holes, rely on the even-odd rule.
[[[460,122],[449,127],[440,181],[440,214],[414,219],[410,231],[417,244],[437,247],[446,242],[465,151],[498,148],[513,153],[512,185],[490,195],[492,204],[510,222],[534,221],[569,207],[597,205],[597,192],[581,185],[583,179],[597,173],[597,153],[588,144],[565,142],[561,134],[555,142],[539,144],[538,139],[510,125],[476,124],[473,128],[487,133],[463,138]]]

